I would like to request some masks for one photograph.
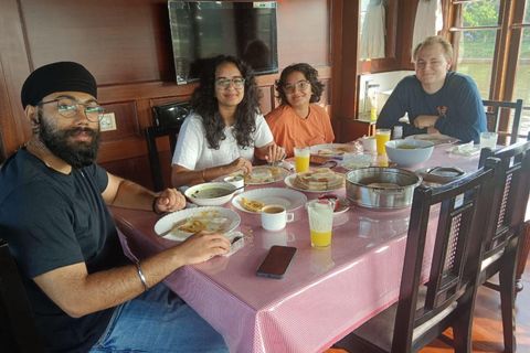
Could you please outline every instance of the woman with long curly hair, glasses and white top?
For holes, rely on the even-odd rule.
[[[173,186],[193,185],[242,170],[252,172],[254,148],[280,160],[263,115],[250,66],[234,56],[213,57],[191,97],[172,160]]]

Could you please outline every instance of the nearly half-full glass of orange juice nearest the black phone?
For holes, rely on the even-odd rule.
[[[307,204],[311,246],[326,249],[331,245],[333,226],[333,205],[329,200],[311,200]]]

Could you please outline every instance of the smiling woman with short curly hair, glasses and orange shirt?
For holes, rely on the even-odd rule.
[[[314,146],[335,140],[328,114],[319,105],[324,84],[318,72],[309,64],[287,66],[276,81],[280,106],[267,114],[265,119],[273,131],[274,140],[283,146],[288,157],[295,146]]]

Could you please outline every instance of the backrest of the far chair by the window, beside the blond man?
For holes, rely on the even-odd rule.
[[[483,100],[486,107],[486,120],[488,122],[488,131],[495,131],[499,136],[509,136],[510,145],[516,143],[519,138],[522,116],[522,99],[517,101],[501,101],[501,100]],[[513,109],[513,120],[511,122],[511,132],[499,131],[499,121],[501,118],[502,108]],[[506,110],[505,109],[505,110]],[[508,116],[507,116],[508,117]]]

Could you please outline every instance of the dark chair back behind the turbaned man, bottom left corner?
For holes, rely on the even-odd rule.
[[[0,238],[1,352],[45,352],[17,265]]]

